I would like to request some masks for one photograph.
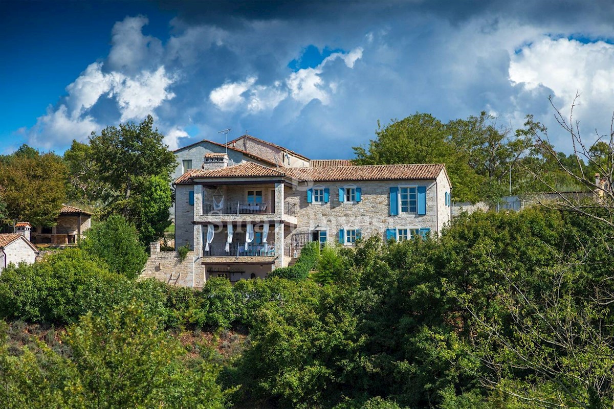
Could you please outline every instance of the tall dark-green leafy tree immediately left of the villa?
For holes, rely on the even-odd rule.
[[[159,239],[170,224],[170,174],[176,161],[163,139],[149,115],[138,125],[125,123],[93,133],[89,147],[73,144],[69,156],[82,172],[77,182],[85,196],[104,204],[103,215],[125,216],[137,227],[142,243]],[[93,163],[76,164],[81,158]]]

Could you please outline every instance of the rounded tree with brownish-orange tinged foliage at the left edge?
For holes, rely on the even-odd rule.
[[[53,226],[66,199],[67,170],[60,156],[22,145],[0,160],[0,186],[7,218]]]

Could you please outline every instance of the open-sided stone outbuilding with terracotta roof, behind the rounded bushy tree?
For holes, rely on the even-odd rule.
[[[32,242],[36,244],[76,244],[91,227],[91,213],[77,207],[62,205],[55,226],[32,227]]]

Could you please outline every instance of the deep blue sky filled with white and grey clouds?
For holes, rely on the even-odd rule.
[[[351,158],[377,121],[527,113],[570,143],[614,111],[610,2],[0,2],[0,141],[62,152],[152,113],[171,148],[231,128]]]

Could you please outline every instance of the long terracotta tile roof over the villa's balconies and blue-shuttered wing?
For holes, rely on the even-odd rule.
[[[328,166],[328,167],[277,167],[260,166],[253,162],[223,167],[214,170],[190,169],[175,183],[189,185],[192,178],[246,178],[262,176],[281,176],[295,180],[314,182],[335,182],[352,180],[428,180],[435,179],[443,164],[400,164],[365,166]]]

